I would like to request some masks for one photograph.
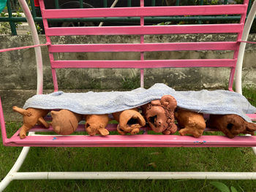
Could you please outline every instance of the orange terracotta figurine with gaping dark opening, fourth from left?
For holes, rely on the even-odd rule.
[[[118,121],[117,131],[119,134],[138,134],[140,127],[146,125],[146,120],[140,115],[137,108],[114,112],[113,118]]]

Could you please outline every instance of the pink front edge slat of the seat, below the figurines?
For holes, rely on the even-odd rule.
[[[88,136],[28,136],[20,139],[14,136],[7,139],[7,146],[42,147],[252,147],[256,146],[255,136],[237,136],[229,139],[225,136],[203,135],[200,138],[180,135],[108,135]]]

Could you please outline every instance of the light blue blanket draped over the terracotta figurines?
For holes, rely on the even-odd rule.
[[[165,84],[157,83],[151,88],[133,91],[110,91],[87,93],[64,93],[35,95],[28,99],[29,107],[56,110],[66,109],[80,114],[109,114],[139,107],[163,95],[171,95],[178,107],[205,114],[236,114],[250,122],[246,113],[253,114],[256,108],[241,94],[231,91],[175,91]]]

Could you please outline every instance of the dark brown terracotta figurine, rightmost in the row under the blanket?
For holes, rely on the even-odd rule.
[[[249,123],[239,115],[210,115],[206,122],[209,128],[218,128],[227,137],[233,138],[238,134],[254,135],[256,124]]]

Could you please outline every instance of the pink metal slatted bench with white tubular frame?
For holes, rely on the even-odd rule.
[[[31,17],[26,8],[26,2],[19,0],[30,23]],[[44,1],[39,0],[42,18],[45,26],[45,36],[49,50],[50,64],[53,74],[54,91],[58,91],[58,82],[56,69],[62,68],[137,68],[140,69],[140,85],[143,87],[143,75],[146,68],[178,68],[178,67],[226,67],[230,69],[228,89],[233,91],[233,79],[236,71],[236,91],[241,93],[241,69],[244,58],[244,49],[246,39],[249,34],[249,28],[252,20],[255,18],[256,3],[253,4],[248,19],[246,20],[246,10],[248,0],[244,4],[227,4],[227,5],[205,5],[205,6],[186,6],[186,7],[144,7],[144,1],[140,0],[140,7],[119,7],[119,8],[96,8],[96,9],[45,9]],[[145,26],[144,17],[157,16],[178,16],[178,15],[241,15],[239,23],[225,24],[202,24],[202,25],[170,25],[170,26]],[[106,18],[106,17],[140,17],[140,26],[102,26],[102,27],[61,27],[49,28],[48,19],[50,18]],[[245,23],[245,25],[244,25]],[[146,43],[145,35],[154,34],[236,34],[236,41],[233,42],[165,42],[165,43]],[[39,45],[35,31],[34,44]],[[50,37],[53,36],[71,36],[71,35],[140,35],[140,43],[123,43],[123,44],[72,44],[72,45],[53,45]],[[35,47],[35,46],[34,46]],[[21,47],[23,48],[23,47]],[[24,47],[26,48],[26,47]],[[175,51],[175,50],[232,50],[233,58],[214,58],[214,59],[172,59],[172,60],[145,60],[144,53],[154,51]],[[102,52],[137,52],[140,53],[140,60],[56,60],[53,53],[102,53]],[[42,59],[40,58],[40,47],[36,47],[38,83],[37,93],[42,93]],[[35,126],[30,131],[26,139],[18,137],[17,131],[12,137],[7,138],[4,124],[4,116],[0,103],[0,120],[1,134],[4,145],[6,146],[26,146],[20,156],[21,160],[28,153],[29,147],[256,147],[255,136],[238,136],[229,139],[219,135],[203,135],[199,139],[189,136],[180,135],[154,135],[147,134],[147,128],[144,128],[145,134],[139,135],[109,135],[108,137],[88,135],[39,135],[37,131],[53,131],[52,128],[45,129]],[[255,114],[249,114],[249,118],[256,120]],[[108,126],[110,131],[116,130],[116,125]],[[80,125],[77,131],[83,131],[83,125]],[[211,131],[211,130],[210,130]],[[54,139],[56,138],[56,139]],[[253,148],[254,149],[254,148]],[[18,163],[20,166],[20,163]],[[166,173],[164,176],[158,172],[133,172],[132,179],[177,179],[177,178],[196,178],[196,179],[256,179],[254,173],[214,173],[214,172],[183,172],[179,174]],[[217,174],[219,175],[217,177]],[[9,176],[8,176],[9,175]],[[8,174],[8,179],[1,182],[0,187],[4,188],[12,179],[29,179],[37,178],[73,178],[73,179],[130,179],[122,173],[91,173],[74,172],[69,173],[50,173],[47,176],[43,173],[21,174],[12,172],[12,179]],[[50,177],[50,176],[51,177]],[[62,176],[60,176],[62,175]],[[162,176],[161,176],[162,175]],[[188,176],[189,175],[189,176]],[[161,176],[161,177],[159,177]],[[6,178],[7,178],[6,177]],[[0,188],[0,189],[1,189]]]

